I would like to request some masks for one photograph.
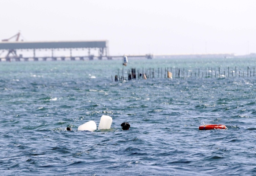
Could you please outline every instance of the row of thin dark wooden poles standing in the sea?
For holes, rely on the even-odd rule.
[[[140,72],[142,71],[142,72]],[[156,71],[156,72],[155,72]],[[174,72],[172,72],[174,71]],[[168,74],[169,73],[169,74]],[[127,70],[127,77],[124,76],[124,69],[120,70],[118,69],[118,74],[115,75],[115,81],[124,81],[124,80],[131,80],[131,79],[149,79],[149,78],[155,78],[155,75],[157,78],[170,78],[171,75],[174,76],[174,78],[185,78],[185,77],[198,77],[198,78],[221,78],[221,77],[254,77],[255,76],[255,67],[253,66],[253,70],[247,67],[247,71],[237,71],[237,67],[235,67],[235,70],[227,68],[227,73],[225,70],[221,70],[220,67],[218,68],[218,71],[212,70],[212,67],[208,67],[207,70],[200,71],[185,71],[185,68],[175,68],[172,69],[172,67],[165,67],[153,69],[153,68],[142,68],[142,70],[132,68]],[[214,73],[214,76],[213,76]],[[217,75],[218,74],[218,75]],[[227,74],[227,75],[226,75]],[[169,76],[168,76],[169,75]],[[112,77],[113,81],[113,77]]]

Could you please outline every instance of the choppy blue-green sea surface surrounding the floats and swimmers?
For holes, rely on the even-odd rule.
[[[125,77],[136,68],[154,78],[115,82],[122,60],[0,62],[0,175],[256,175],[254,66],[129,59]],[[102,115],[111,129],[78,131]]]

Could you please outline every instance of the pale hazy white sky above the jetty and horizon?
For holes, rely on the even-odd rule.
[[[0,39],[109,40],[111,55],[256,53],[256,0],[0,0]]]

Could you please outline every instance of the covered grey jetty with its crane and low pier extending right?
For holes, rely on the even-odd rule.
[[[3,39],[0,42],[0,61],[29,61],[29,60],[93,60],[95,57],[98,59],[107,58],[117,58],[123,56],[110,56],[108,48],[108,40],[101,41],[54,41],[54,42],[25,42],[19,41],[20,32],[12,36],[9,39]],[[11,41],[15,39],[15,41]],[[69,52],[68,54],[56,55],[56,52]],[[19,51],[19,52],[18,52]],[[38,55],[38,52],[44,51],[44,55]],[[48,51],[48,55],[45,52]],[[49,54],[49,51],[51,52]],[[77,52],[80,54],[74,54]],[[97,52],[94,55],[92,51]],[[29,52],[27,56],[22,54],[23,52]],[[82,52],[82,54],[81,54]],[[5,54],[5,56],[1,56]],[[146,57],[152,59],[153,55],[132,55],[129,57]]]

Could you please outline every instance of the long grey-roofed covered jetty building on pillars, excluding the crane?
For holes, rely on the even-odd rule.
[[[69,50],[70,55],[67,56],[54,56],[53,53],[55,50]],[[72,55],[72,50],[84,50],[87,49],[88,55],[87,56],[74,56]],[[29,58],[33,58],[34,61],[38,61],[39,58],[42,60],[47,60],[51,58],[52,60],[57,60],[57,58],[61,58],[61,60],[65,60],[70,58],[70,60],[75,60],[75,58],[79,58],[80,60],[84,60],[85,57],[88,57],[90,60],[94,58],[94,55],[90,54],[91,49],[96,49],[99,52],[98,58],[102,59],[103,56],[108,58],[108,40],[104,41],[53,41],[53,42],[23,42],[23,41],[3,41],[0,42],[0,54],[4,51],[7,51],[7,55],[4,58],[6,61],[28,61]],[[33,51],[33,56],[31,57],[23,57],[22,54],[18,54],[17,50],[20,52],[26,51]],[[36,51],[39,50],[51,50],[51,56],[37,56]]]

